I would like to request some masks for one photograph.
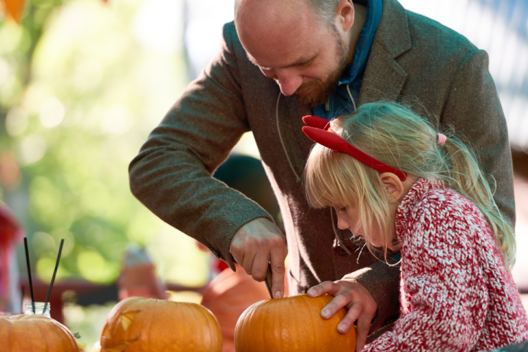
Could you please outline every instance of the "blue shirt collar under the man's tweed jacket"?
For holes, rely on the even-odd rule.
[[[369,60],[372,42],[382,18],[382,0],[356,0],[354,2],[367,6],[365,24],[360,32],[358,43],[355,45],[354,58],[344,68],[338,81],[338,87],[329,100],[325,104],[317,105],[311,112],[327,120],[354,111],[354,104],[351,102],[347,85],[355,104],[358,104],[366,62]]]

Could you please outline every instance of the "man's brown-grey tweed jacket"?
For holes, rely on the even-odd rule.
[[[415,106],[438,129],[472,142],[495,199],[514,219],[511,153],[487,54],[439,23],[384,0],[364,72],[359,104],[379,100]],[[280,99],[279,99],[280,98]],[[131,191],[158,217],[208,246],[234,270],[230,241],[242,225],[265,217],[256,203],[212,178],[241,135],[252,131],[283,216],[289,287],[306,292],[347,274],[378,304],[372,329],[399,315],[399,269],[369,254],[350,232],[333,233],[330,210],[309,208],[301,175],[312,146],[301,131],[311,109],[253,65],[236,35],[223,28],[223,47],[168,111],[130,164]]]

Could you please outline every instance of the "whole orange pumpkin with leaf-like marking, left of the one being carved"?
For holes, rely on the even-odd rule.
[[[101,352],[221,352],[222,335],[201,305],[131,297],[108,314],[100,344]]]

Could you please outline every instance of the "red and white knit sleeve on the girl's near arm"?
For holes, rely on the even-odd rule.
[[[415,208],[401,245],[401,316],[364,351],[470,351],[476,344],[489,298],[473,213],[439,199]]]

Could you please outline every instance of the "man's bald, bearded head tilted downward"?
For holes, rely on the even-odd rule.
[[[325,102],[351,58],[351,0],[236,0],[234,23],[250,61],[304,104]]]

